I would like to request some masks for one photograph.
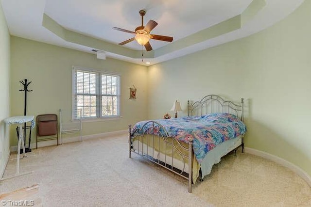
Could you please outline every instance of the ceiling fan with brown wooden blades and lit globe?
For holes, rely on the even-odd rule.
[[[145,16],[146,11],[140,10],[139,15],[141,16],[141,26],[138,26],[135,29],[135,32],[129,31],[129,30],[124,30],[118,27],[113,27],[112,29],[114,30],[119,30],[121,32],[128,32],[128,33],[133,33],[135,34],[135,37],[125,40],[124,42],[119,43],[119,45],[125,45],[126,43],[132,42],[133,40],[136,40],[139,45],[145,46],[147,51],[152,50],[152,47],[149,43],[150,39],[154,40],[161,40],[161,41],[166,41],[166,42],[172,42],[173,37],[169,36],[163,36],[163,35],[157,35],[157,34],[150,34],[150,32],[155,28],[157,23],[154,20],[149,20],[149,22],[146,24],[146,26],[143,26],[143,16]]]

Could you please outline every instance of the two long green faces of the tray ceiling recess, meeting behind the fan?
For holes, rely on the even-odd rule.
[[[50,16],[44,14],[42,20],[42,26],[53,32],[55,35],[64,39],[65,41],[80,44],[83,46],[98,48],[110,53],[116,53],[129,58],[140,59],[142,57],[141,51],[116,46],[111,43],[107,43],[103,40],[99,40],[93,37],[86,36],[77,32],[72,32],[54,21]],[[201,30],[191,34],[183,39],[177,40],[162,48],[155,49],[153,51],[144,52],[144,58],[158,58],[162,55],[167,55],[173,51],[187,48],[191,45],[198,44],[213,37],[220,36],[222,34],[232,32],[241,28],[241,15],[234,16],[216,25],[213,25],[207,29]]]

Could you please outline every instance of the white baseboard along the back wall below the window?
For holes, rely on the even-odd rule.
[[[118,135],[121,135],[127,132],[128,132],[128,129],[120,130],[120,131],[104,132],[100,134],[85,135],[85,136],[82,136],[82,140],[95,139],[95,138],[101,138],[101,137],[103,138],[103,137],[109,137],[109,136],[118,136]],[[62,141],[63,143],[79,142],[80,136],[63,138]],[[46,141],[38,142],[38,147],[52,146],[56,144],[57,144],[57,140],[46,140]],[[34,149],[35,143],[31,143],[30,148]],[[11,146],[11,152],[16,152],[16,151],[17,151],[17,146]]]

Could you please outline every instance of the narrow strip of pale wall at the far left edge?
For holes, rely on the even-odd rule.
[[[0,1],[0,177],[9,158],[9,130],[3,119],[10,111],[10,33],[3,15]]]

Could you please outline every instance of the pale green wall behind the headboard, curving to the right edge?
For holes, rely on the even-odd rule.
[[[148,68],[148,118],[173,101],[217,94],[246,99],[246,146],[286,159],[311,175],[311,1],[276,25],[218,47]],[[180,113],[180,115],[182,115]]]

